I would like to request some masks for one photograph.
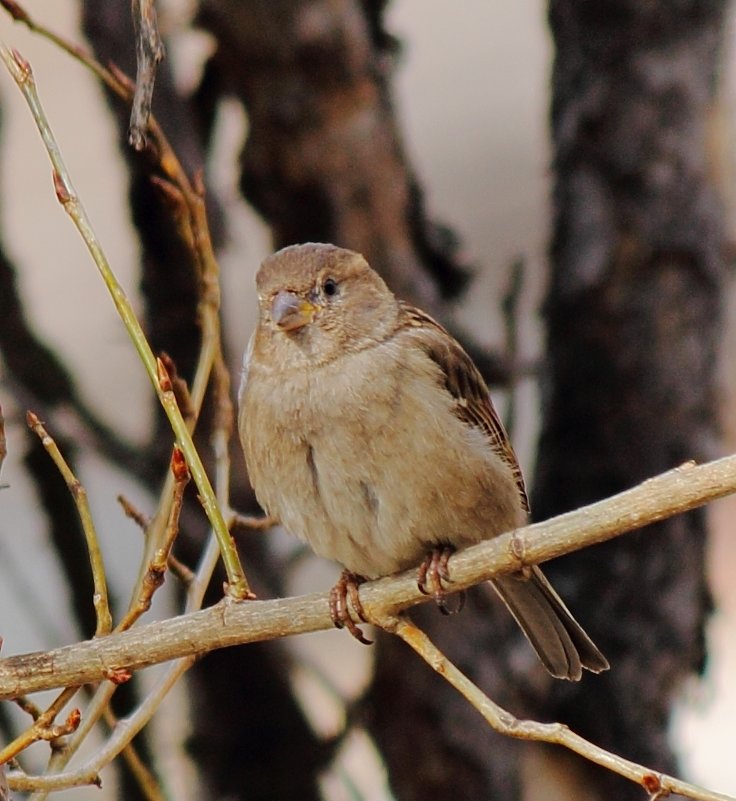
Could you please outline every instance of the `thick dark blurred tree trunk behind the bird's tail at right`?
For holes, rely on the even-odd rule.
[[[550,5],[556,182],[540,518],[714,455],[725,269],[706,151],[725,9]],[[556,688],[548,711],[655,769],[676,769],[672,702],[703,666],[704,548],[704,515],[693,513],[548,571],[612,665]],[[610,774],[596,781],[604,797],[641,793]]]

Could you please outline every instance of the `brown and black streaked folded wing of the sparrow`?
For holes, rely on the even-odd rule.
[[[494,451],[514,474],[523,507],[528,512],[529,499],[521,467],[480,371],[460,343],[436,320],[407,303],[402,302],[400,305],[399,331],[407,336],[411,336],[414,331],[417,333],[422,331],[422,335],[417,336],[415,342],[442,371],[445,388],[455,400],[455,414],[468,425],[479,428],[488,437]]]

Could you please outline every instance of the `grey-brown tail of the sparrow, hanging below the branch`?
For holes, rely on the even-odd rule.
[[[558,679],[579,681],[583,668],[608,670],[608,660],[570,614],[544,573],[515,573],[491,581],[544,667]]]

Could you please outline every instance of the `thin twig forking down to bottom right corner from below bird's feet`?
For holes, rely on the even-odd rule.
[[[696,801],[735,801],[733,796],[716,793],[694,784],[658,773],[631,760],[594,745],[562,723],[538,723],[519,720],[498,706],[437,648],[427,635],[404,616],[374,620],[386,631],[400,637],[437,673],[448,681],[500,734],[520,740],[553,743],[569,748],[576,754],[594,762],[625,779],[641,785],[650,798],[664,798],[672,793]]]

